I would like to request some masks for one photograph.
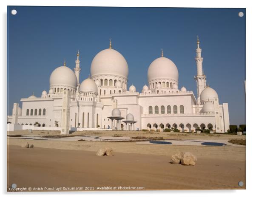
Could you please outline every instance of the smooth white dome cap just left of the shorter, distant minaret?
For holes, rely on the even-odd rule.
[[[60,66],[54,69],[50,76],[50,87],[58,85],[66,85],[76,88],[77,76],[67,66]]]

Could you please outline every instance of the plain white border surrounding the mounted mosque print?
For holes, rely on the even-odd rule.
[[[6,196],[6,6],[121,6],[121,7],[213,7],[213,8],[246,8],[246,79],[247,79],[247,97],[246,97],[246,124],[247,124],[247,153],[246,153],[246,188],[247,190],[205,190],[205,191],[144,191],[144,192],[65,192],[65,193],[37,193],[37,197],[44,197],[49,194],[54,194],[54,196],[62,196],[69,197],[72,194],[76,194],[78,196],[90,196],[90,197],[134,197],[134,196],[147,196],[149,198],[156,197],[160,195],[162,197],[170,197],[170,196],[188,196],[188,197],[204,197],[208,198],[220,195],[224,195],[225,197],[250,197],[255,196],[255,138],[256,131],[253,130],[251,125],[255,125],[255,116],[253,112],[255,110],[255,90],[253,85],[255,85],[255,77],[256,74],[256,65],[255,57],[256,51],[256,28],[255,28],[255,19],[256,19],[256,10],[253,5],[252,0],[232,0],[232,1],[224,1],[224,0],[176,0],[176,1],[164,1],[164,0],[2,0],[0,1],[0,10],[1,10],[1,42],[2,46],[0,48],[0,60],[2,61],[1,67],[1,80],[2,80],[2,96],[0,97],[1,104],[1,126],[2,127],[2,139],[1,139],[1,147],[3,148],[2,156],[3,160],[1,163],[1,170],[3,178],[1,179],[1,191],[4,196]],[[230,75],[232,75],[232,71],[230,71]],[[234,79],[236,80],[236,79]],[[3,91],[4,90],[4,91]],[[237,93],[243,94],[243,93]],[[255,128],[255,127],[254,127]],[[195,181],[196,182],[196,181]],[[10,193],[9,193],[10,195]],[[15,195],[17,195],[15,193]],[[34,197],[34,193],[23,193],[19,196],[29,196],[32,195]],[[13,194],[10,195],[14,196]]]

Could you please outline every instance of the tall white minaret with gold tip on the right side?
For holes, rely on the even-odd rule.
[[[201,56],[202,49],[199,47],[199,38],[197,36],[197,48],[196,48],[196,68],[197,68],[197,75],[194,77],[196,80],[196,87],[197,87],[197,104],[200,105],[200,94],[206,87],[206,76],[203,72],[203,57]]]

